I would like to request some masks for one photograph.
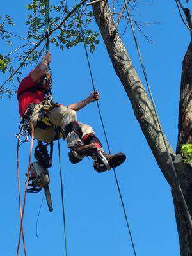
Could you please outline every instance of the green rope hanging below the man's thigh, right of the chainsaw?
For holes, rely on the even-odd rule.
[[[65,221],[65,207],[64,207],[64,196],[63,196],[63,177],[61,172],[61,149],[60,149],[60,127],[57,127],[57,136],[58,136],[58,155],[60,163],[60,180],[61,180],[61,201],[62,201],[62,212],[63,212],[63,228],[65,235],[65,255],[67,256],[67,232],[66,232],[66,221]]]

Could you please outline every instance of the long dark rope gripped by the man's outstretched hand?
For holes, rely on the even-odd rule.
[[[95,84],[94,84],[94,81],[93,81],[93,75],[92,75],[92,68],[91,68],[91,65],[90,65],[90,60],[89,60],[89,57],[88,57],[88,51],[86,49],[86,44],[85,44],[85,40],[84,40],[84,35],[83,35],[83,26],[81,24],[81,17],[80,17],[80,13],[79,13],[79,7],[77,6],[77,1],[75,0],[76,2],[76,8],[77,8],[77,15],[79,17],[79,25],[80,25],[80,29],[81,29],[81,36],[83,38],[83,44],[84,44],[84,51],[86,53],[86,60],[87,60],[87,63],[88,63],[88,68],[89,68],[89,72],[90,72],[90,77],[91,77],[91,80],[92,80],[92,86],[93,86],[93,90],[95,91]],[[109,150],[109,154],[111,154],[111,150],[110,150],[110,147],[109,147],[109,141],[108,141],[108,136],[106,134],[106,129],[104,127],[104,121],[103,121],[103,118],[102,118],[102,114],[101,114],[101,111],[100,111],[100,107],[99,107],[99,102],[96,101],[97,103],[97,108],[98,108],[98,111],[99,111],[99,116],[100,116],[100,121],[101,121],[101,124],[102,124],[102,129],[104,131],[104,137],[106,139],[106,143],[107,143],[107,146],[108,146],[108,150]],[[134,255],[136,256],[136,249],[135,249],[135,246],[134,246],[134,241],[132,239],[132,234],[131,234],[131,229],[129,227],[129,221],[128,221],[128,218],[127,218],[127,213],[125,211],[125,205],[124,205],[124,200],[122,198],[122,193],[120,191],[120,186],[119,186],[119,182],[118,182],[118,179],[117,179],[117,176],[116,176],[116,172],[115,172],[115,168],[113,168],[113,173],[115,175],[115,180],[116,180],[116,185],[117,185],[117,188],[118,188],[118,193],[120,195],[120,201],[122,203],[122,208],[123,208],[123,211],[124,211],[124,216],[125,216],[125,221],[126,221],[126,224],[127,224],[127,229],[128,229],[128,232],[129,232],[129,236],[131,238],[131,244],[132,244],[132,249],[134,251]]]

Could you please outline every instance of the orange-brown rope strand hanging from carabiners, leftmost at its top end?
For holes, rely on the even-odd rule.
[[[20,214],[20,220],[22,218],[22,208],[21,208],[21,193],[20,193],[20,172],[19,172],[19,140],[17,140],[17,188],[18,188],[18,195],[19,195],[19,214]],[[24,228],[22,225],[22,243],[24,246],[24,254],[27,255],[26,252],[26,242],[24,238]]]

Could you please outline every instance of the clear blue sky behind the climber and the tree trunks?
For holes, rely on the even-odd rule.
[[[52,1],[51,1],[52,2]],[[152,1],[142,1],[152,3]],[[16,26],[12,32],[25,36],[25,20],[28,1],[3,1],[1,16],[14,18]],[[190,5],[190,4],[189,4]],[[144,12],[138,19],[161,22],[145,28],[153,40],[148,43],[138,34],[148,79],[156,100],[164,132],[172,147],[177,143],[177,116],[179,108],[180,72],[182,59],[189,44],[188,30],[182,24],[175,1],[156,1],[156,4],[138,4],[138,11]],[[137,16],[136,18],[137,19]],[[97,29],[95,25],[92,25]],[[140,77],[140,63],[130,30],[123,40],[134,67]],[[15,49],[22,41],[13,45]],[[11,51],[0,41],[1,52]],[[92,92],[83,45],[63,52],[51,47],[54,99],[63,104],[82,100]],[[112,152],[122,151],[126,162],[116,169],[125,209],[132,231],[138,256],[179,256],[179,240],[175,225],[173,200],[161,170],[150,151],[134,117],[127,95],[116,77],[106,48],[100,38],[95,53],[90,56],[93,77],[100,92],[100,108]],[[23,68],[27,75],[30,67]],[[1,83],[7,76],[1,74]],[[90,104],[78,113],[78,120],[92,125],[104,148],[104,134],[96,104]],[[1,240],[0,254],[16,255],[19,235],[19,207],[17,195],[16,139],[20,121],[15,95],[12,100],[1,100]],[[20,172],[22,191],[28,164],[29,144],[20,147]],[[63,183],[65,186],[65,211],[67,222],[68,256],[125,256],[134,255],[125,225],[113,172],[97,173],[92,160],[84,159],[72,165],[68,161],[68,149],[61,141]],[[54,211],[49,213],[44,200],[38,221],[36,218],[43,193],[27,197],[24,216],[24,231],[28,256],[65,255],[63,221],[61,211],[61,189],[58,167],[57,143],[54,145],[54,164],[51,176],[51,195]],[[20,256],[24,255],[22,244]]]

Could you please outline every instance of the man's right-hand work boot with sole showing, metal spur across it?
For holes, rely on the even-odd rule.
[[[115,168],[119,166],[120,164],[124,163],[126,159],[126,156],[124,153],[117,153],[112,155],[106,154],[106,153],[102,153],[102,154],[104,155],[104,157],[106,157],[111,168]],[[93,168],[97,172],[105,172],[107,170],[105,164],[102,163],[102,160],[100,159],[99,156],[95,158],[95,161],[93,163]]]

